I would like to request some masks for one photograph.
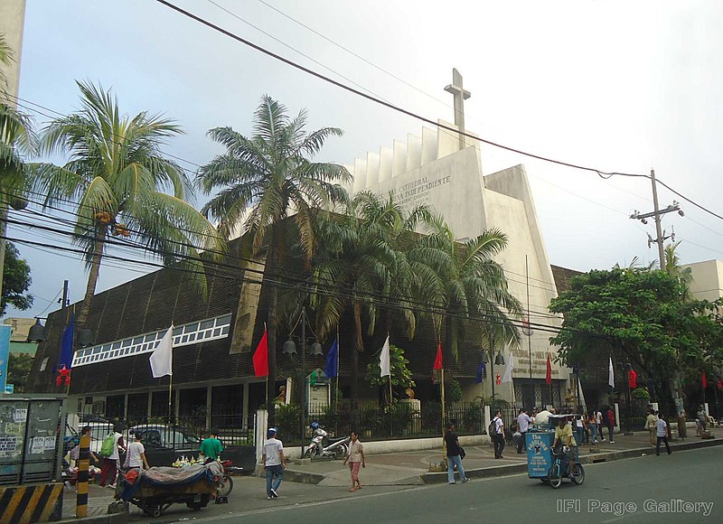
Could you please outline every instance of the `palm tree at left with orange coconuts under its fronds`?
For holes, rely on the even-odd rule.
[[[200,252],[218,253],[224,244],[211,223],[184,200],[192,197],[192,182],[183,169],[160,152],[164,139],[179,135],[181,128],[146,112],[126,117],[109,90],[77,84],[82,109],[53,120],[41,140],[42,152],[67,153],[70,160],[61,166],[38,164],[34,183],[46,195],[44,206],[75,202],[73,238],[89,269],[76,319],[83,327],[112,236],[132,237],[164,264],[189,269],[203,290]]]

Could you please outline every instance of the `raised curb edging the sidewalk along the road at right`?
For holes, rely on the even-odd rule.
[[[671,445],[673,451],[685,451],[689,449],[699,449],[705,447],[713,447],[716,445],[723,445],[723,439],[712,438],[709,440],[701,440],[697,442],[688,442],[683,444]],[[577,460],[580,463],[591,464],[591,463],[605,463],[613,462],[616,460],[638,457],[641,454],[654,453],[655,448],[653,446],[638,447],[634,449],[626,449],[624,451],[617,451],[605,454],[590,454],[586,456],[578,457]],[[474,470],[465,470],[465,474],[470,479],[484,479],[490,477],[502,477],[505,475],[513,475],[515,473],[527,472],[527,464],[511,464],[506,466],[493,466],[489,468],[478,468]],[[424,473],[419,475],[419,478],[425,484],[441,484],[447,482],[447,473]]]

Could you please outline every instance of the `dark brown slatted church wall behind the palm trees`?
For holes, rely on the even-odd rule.
[[[231,252],[235,252],[234,242]],[[224,264],[233,265],[231,261]],[[199,321],[205,318],[231,313],[231,329],[233,328],[242,284],[242,273],[232,267],[209,265],[208,299],[187,280],[183,273],[165,268],[146,276],[141,276],[124,285],[109,289],[93,299],[89,316],[89,329],[96,332],[96,343],[111,342],[122,338],[136,336],[146,332],[155,332],[167,328],[172,322],[175,325]],[[298,270],[294,264],[294,271]],[[104,269],[109,270],[109,269]],[[558,285],[565,285],[568,278],[576,272],[553,267]],[[284,295],[282,290],[280,295]],[[267,319],[266,304],[268,284],[262,285],[259,298],[259,311],[254,325],[252,345],[261,338],[264,322]],[[80,303],[70,306],[80,307]],[[69,308],[69,309],[70,309]],[[48,341],[40,344],[33,362],[31,384],[35,392],[58,392],[55,387],[54,370],[60,353],[61,332],[69,312],[51,313],[48,322]],[[375,360],[375,353],[380,350],[387,336],[386,314],[380,311],[377,332],[370,336],[364,333],[365,351],[360,355],[360,385],[366,374],[369,362]],[[279,376],[289,374],[292,364],[282,354],[286,341],[288,326],[281,327],[277,335],[277,373]],[[398,324],[392,325],[391,342],[404,348],[410,361],[410,368],[418,382],[431,379],[432,367],[437,351],[437,337],[428,321],[418,323],[418,332],[414,339],[409,340]],[[366,323],[364,323],[366,327]],[[296,333],[298,334],[298,333]],[[216,341],[201,342],[174,349],[174,385],[190,385],[198,381],[214,381],[240,379],[253,376],[251,364],[252,352],[230,354],[230,336]],[[351,312],[345,314],[340,326],[340,375],[348,377],[351,371],[353,325]],[[444,340],[444,338],[443,338]],[[324,352],[329,349],[333,336],[320,341]],[[102,393],[105,391],[140,391],[167,385],[168,379],[154,379],[151,376],[150,354],[145,353],[108,362],[99,362],[81,366],[72,370],[70,394]],[[48,357],[47,368],[39,371],[43,358]],[[460,349],[460,359],[454,360],[448,348],[445,348],[446,369],[451,370],[455,378],[473,379],[480,360],[479,343],[467,340]],[[307,359],[307,367],[324,368],[324,358]],[[64,388],[62,388],[64,391]]]

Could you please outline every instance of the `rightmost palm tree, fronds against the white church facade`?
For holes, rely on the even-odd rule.
[[[423,247],[410,254],[425,261],[437,273],[437,288],[443,289],[441,306],[444,313],[432,315],[437,332],[445,323],[445,347],[459,358],[459,343],[464,340],[469,317],[484,316],[486,330],[496,333],[495,340],[520,342],[520,332],[510,315],[520,316],[522,307],[507,289],[502,266],[493,257],[507,246],[507,237],[500,229],[488,229],[474,239],[455,240],[455,234],[443,217],[432,220]]]

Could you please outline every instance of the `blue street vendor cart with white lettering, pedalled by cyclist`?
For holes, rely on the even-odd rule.
[[[542,415],[541,413],[538,415]],[[527,449],[527,476],[549,483],[553,488],[560,485],[562,478],[567,478],[565,461],[561,454],[556,454],[552,444],[555,443],[555,427],[560,419],[575,420],[575,414],[549,415],[547,420],[536,419],[535,424],[525,435]],[[544,418],[544,416],[543,416]],[[558,450],[559,452],[559,450]],[[575,453],[575,471],[573,482],[581,484],[585,480],[585,472],[578,460],[578,446],[573,446]]]

